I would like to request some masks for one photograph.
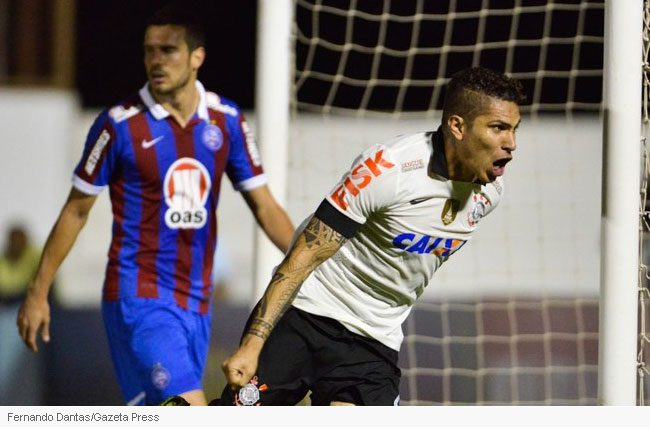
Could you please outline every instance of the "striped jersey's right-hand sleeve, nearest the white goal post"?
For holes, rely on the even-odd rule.
[[[267,180],[253,132],[244,114],[239,109],[237,112],[236,117],[228,118],[230,152],[226,174],[237,191],[250,191],[266,185]]]

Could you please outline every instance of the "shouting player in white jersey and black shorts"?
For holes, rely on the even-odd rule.
[[[393,405],[402,322],[499,203],[516,149],[519,82],[484,68],[449,82],[435,132],[352,163],[294,236],[223,363],[223,405]]]

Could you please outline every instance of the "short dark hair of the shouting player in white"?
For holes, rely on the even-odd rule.
[[[483,67],[464,69],[455,73],[447,84],[442,106],[443,124],[451,115],[459,115],[471,124],[488,108],[487,97],[516,104],[526,100],[518,80]]]

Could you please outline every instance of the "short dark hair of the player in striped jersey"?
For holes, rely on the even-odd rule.
[[[192,3],[173,1],[158,9],[145,24],[145,29],[153,25],[176,25],[185,29],[185,42],[190,51],[205,46],[205,29],[202,16]]]

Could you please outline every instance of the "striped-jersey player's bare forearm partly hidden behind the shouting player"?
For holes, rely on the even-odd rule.
[[[294,228],[289,216],[275,200],[269,187],[265,185],[243,191],[242,196],[269,239],[282,253],[287,253]]]

